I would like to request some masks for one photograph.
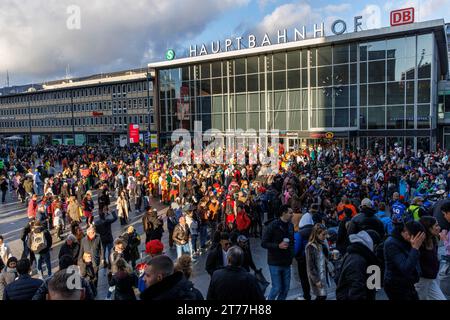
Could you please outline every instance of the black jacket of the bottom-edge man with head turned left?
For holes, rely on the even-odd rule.
[[[141,293],[141,300],[204,300],[194,284],[182,272],[164,278]]]

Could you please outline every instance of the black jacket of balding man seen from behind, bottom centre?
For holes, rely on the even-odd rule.
[[[207,300],[262,301],[265,300],[258,282],[241,267],[227,266],[214,272]]]

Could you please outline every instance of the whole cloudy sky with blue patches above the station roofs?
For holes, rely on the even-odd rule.
[[[394,4],[393,4],[394,3]],[[415,7],[450,22],[450,0],[0,0],[0,87],[144,67],[173,48],[362,15],[363,29]],[[329,26],[329,24],[328,24]],[[325,30],[327,32],[327,30]]]

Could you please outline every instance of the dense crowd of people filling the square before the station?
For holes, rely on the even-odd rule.
[[[28,216],[20,257],[0,237],[4,300],[99,298],[101,268],[107,299],[285,300],[295,264],[299,299],[375,300],[381,288],[390,300],[450,295],[450,163],[441,150],[280,148],[270,174],[262,165],[175,165],[170,150],[141,147],[38,146],[0,157],[2,200],[11,192]],[[142,235],[129,223],[140,214]],[[270,282],[251,238],[267,250]],[[164,248],[176,249],[176,261]],[[201,256],[205,295],[189,280]],[[72,269],[82,289],[63,290]]]

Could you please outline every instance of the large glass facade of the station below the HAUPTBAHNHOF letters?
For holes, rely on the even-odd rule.
[[[201,120],[203,131],[357,131],[361,147],[406,146],[428,129],[413,142],[423,147],[433,129],[434,54],[428,33],[161,69],[160,137]]]

